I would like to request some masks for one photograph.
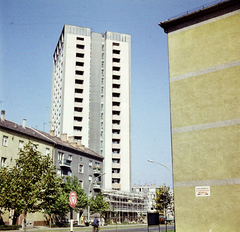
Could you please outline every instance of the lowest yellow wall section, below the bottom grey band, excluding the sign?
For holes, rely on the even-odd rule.
[[[210,197],[195,197],[195,188],[175,188],[177,232],[238,232],[240,185],[211,186]],[[191,211],[190,211],[191,208]]]

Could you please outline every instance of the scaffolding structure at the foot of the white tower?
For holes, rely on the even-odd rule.
[[[110,223],[141,223],[147,215],[148,199],[144,193],[103,190],[110,205],[107,219]]]

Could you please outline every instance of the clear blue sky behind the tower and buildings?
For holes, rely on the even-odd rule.
[[[216,1],[215,1],[216,2]],[[158,25],[209,0],[1,0],[0,110],[49,132],[52,62],[64,24],[131,35],[132,185],[172,187],[167,34]]]

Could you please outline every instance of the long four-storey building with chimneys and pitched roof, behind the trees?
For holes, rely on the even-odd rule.
[[[15,166],[19,150],[31,141],[33,145],[38,145],[38,151],[43,155],[49,154],[52,157],[59,176],[64,178],[77,176],[87,194],[96,195],[101,191],[100,175],[102,174],[103,157],[77,142],[67,141],[66,135],[62,135],[62,139],[60,139],[27,127],[26,120],[23,120],[22,125],[6,120],[5,111],[1,111],[0,138],[2,139],[1,166]],[[77,215],[75,216],[79,218]],[[22,218],[19,219],[19,224],[21,224]],[[37,226],[44,225],[45,217],[41,213],[29,213],[28,219],[34,219],[34,225]],[[3,216],[3,220],[5,224],[11,223],[6,214]]]

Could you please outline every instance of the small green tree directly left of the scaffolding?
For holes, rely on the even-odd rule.
[[[91,197],[90,210],[93,213],[99,213],[100,217],[105,218],[105,214],[109,208],[110,206],[107,203],[105,196],[102,194],[102,192],[99,192],[95,197]]]

